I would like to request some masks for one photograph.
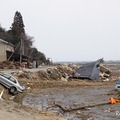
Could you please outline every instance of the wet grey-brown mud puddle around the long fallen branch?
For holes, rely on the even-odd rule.
[[[35,107],[44,111],[51,111],[67,120],[117,120],[120,119],[120,104],[104,105],[88,108],[85,110],[76,110],[64,112],[55,103],[64,108],[76,108],[78,106],[87,106],[109,101],[114,97],[110,87],[82,87],[82,88],[64,88],[47,89],[41,94],[30,94],[23,100],[23,105]],[[118,112],[118,113],[117,113]]]

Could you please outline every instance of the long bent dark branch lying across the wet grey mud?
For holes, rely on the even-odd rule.
[[[108,105],[108,104],[110,104],[110,103],[105,102],[105,103],[98,103],[98,104],[94,104],[94,105],[87,105],[87,106],[77,107],[77,108],[65,108],[65,107],[61,106],[60,104],[54,103],[54,106],[59,107],[63,112],[72,112],[72,111],[83,110],[83,109],[87,109],[87,108],[91,108],[91,107]]]

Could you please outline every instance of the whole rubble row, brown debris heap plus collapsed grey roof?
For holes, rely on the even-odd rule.
[[[57,65],[47,70],[39,70],[38,72],[30,72],[19,70],[17,76],[19,78],[27,78],[28,80],[61,80],[67,82],[69,78],[91,79],[109,81],[111,78],[111,70],[101,63],[101,59],[86,63],[79,66],[73,65]]]

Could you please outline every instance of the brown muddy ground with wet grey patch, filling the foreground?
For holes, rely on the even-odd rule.
[[[64,109],[75,109],[83,106],[109,102],[109,98],[118,98],[114,90],[120,73],[114,73],[109,81],[91,81],[72,79],[41,80],[20,78],[26,87],[23,93],[8,95],[4,89],[0,100],[0,119],[4,120],[119,120],[120,103],[105,104],[86,109],[65,112]],[[13,99],[12,99],[13,98]]]

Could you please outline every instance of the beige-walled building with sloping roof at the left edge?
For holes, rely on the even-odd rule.
[[[0,62],[8,59],[7,52],[14,52],[14,45],[5,40],[0,39]]]

